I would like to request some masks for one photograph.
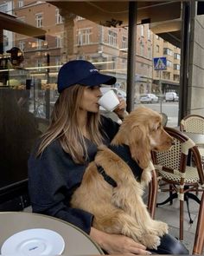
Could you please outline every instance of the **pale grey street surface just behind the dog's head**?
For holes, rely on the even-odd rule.
[[[139,106],[140,104],[135,104],[135,107]],[[159,103],[150,103],[150,104],[143,104],[143,106],[147,108],[151,108],[156,110],[157,112],[163,112],[168,115],[168,122],[167,126],[169,127],[176,127],[178,126],[178,102],[159,102]]]

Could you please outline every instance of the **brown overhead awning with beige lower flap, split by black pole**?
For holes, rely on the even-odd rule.
[[[129,2],[99,1],[73,2],[49,0],[63,11],[85,17],[94,23],[107,27],[124,27],[128,25]],[[169,43],[181,47],[181,2],[137,2],[137,24],[150,23],[156,35]]]

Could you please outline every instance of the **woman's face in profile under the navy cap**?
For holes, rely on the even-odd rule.
[[[80,108],[87,112],[97,113],[99,112],[99,98],[101,97],[101,91],[99,86],[89,87],[86,86],[84,94],[80,102]]]

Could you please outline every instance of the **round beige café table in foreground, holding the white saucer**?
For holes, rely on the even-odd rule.
[[[46,228],[60,233],[65,241],[63,255],[99,255],[101,248],[80,228],[47,215],[24,212],[0,213],[0,248],[14,233],[31,228]]]

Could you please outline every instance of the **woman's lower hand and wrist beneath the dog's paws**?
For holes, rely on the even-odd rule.
[[[104,233],[92,227],[90,236],[108,254],[151,254],[145,246],[122,234]]]

